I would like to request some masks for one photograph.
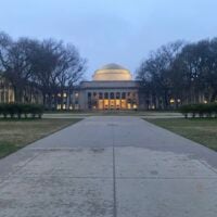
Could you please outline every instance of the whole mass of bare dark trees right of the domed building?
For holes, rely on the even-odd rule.
[[[156,108],[214,102],[217,100],[217,38],[161,47],[141,63],[137,78]]]

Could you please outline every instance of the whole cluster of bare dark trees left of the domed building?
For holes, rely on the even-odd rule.
[[[43,104],[51,108],[58,95],[66,89],[73,91],[85,68],[86,60],[73,44],[54,39],[13,40],[0,33],[0,76],[14,89],[15,102],[29,103],[40,94]]]

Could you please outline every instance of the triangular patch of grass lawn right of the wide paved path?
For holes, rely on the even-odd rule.
[[[145,120],[217,151],[216,118],[164,118]]]

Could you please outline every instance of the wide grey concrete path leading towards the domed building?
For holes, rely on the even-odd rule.
[[[216,217],[217,154],[138,117],[89,117],[0,161],[0,217]]]

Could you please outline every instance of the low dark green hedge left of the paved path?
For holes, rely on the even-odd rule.
[[[2,103],[0,104],[0,116],[4,118],[41,118],[43,106],[38,104],[22,104],[22,103]]]

